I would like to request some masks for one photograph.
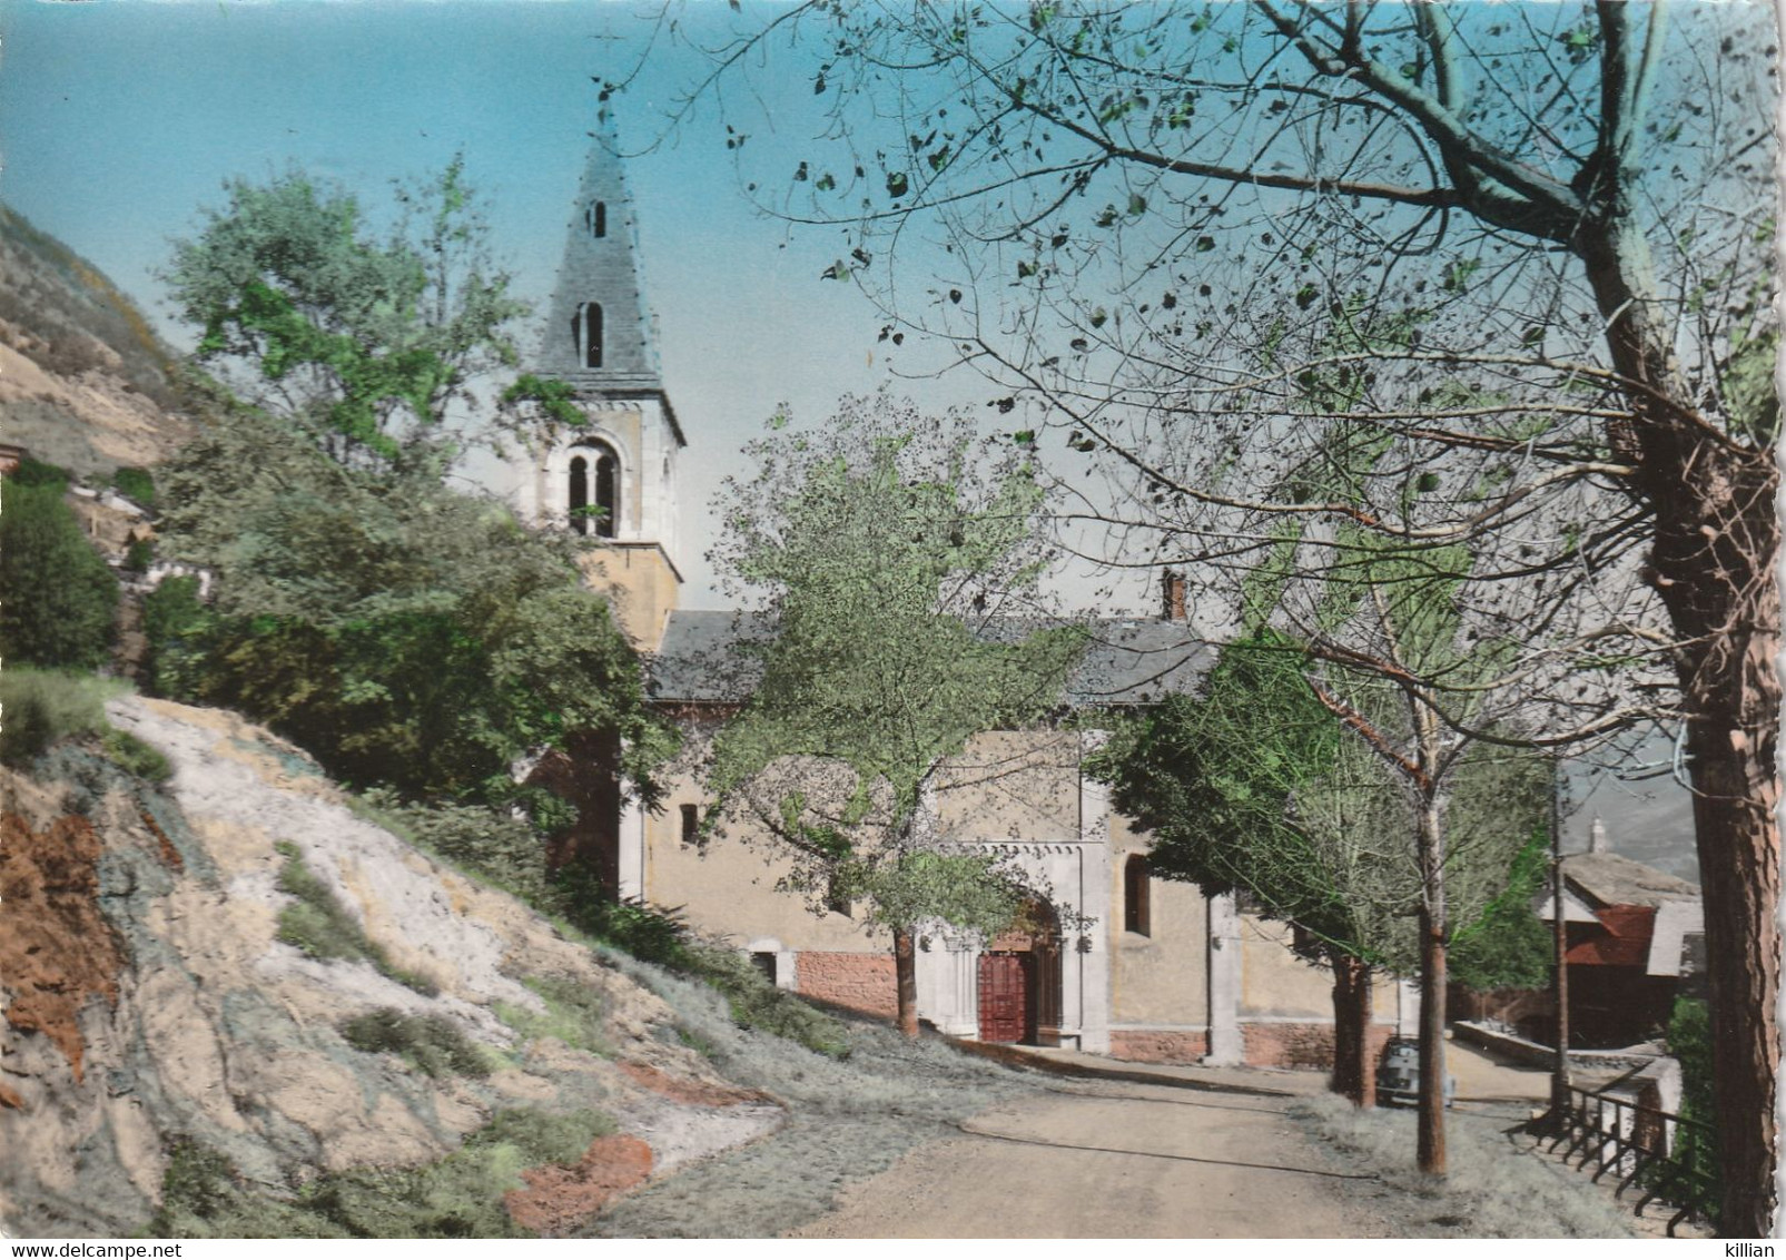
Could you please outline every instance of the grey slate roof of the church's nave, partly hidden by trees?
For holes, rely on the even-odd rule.
[[[981,634],[1013,642],[1045,624],[1000,618]],[[1064,699],[1075,706],[1147,704],[1188,692],[1214,661],[1216,649],[1184,622],[1111,617],[1091,620],[1088,629],[1091,643],[1066,683]],[[738,649],[764,643],[772,634],[773,624],[763,613],[677,609],[650,659],[650,695],[684,704],[739,702],[761,677],[761,661]]]

